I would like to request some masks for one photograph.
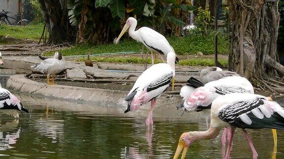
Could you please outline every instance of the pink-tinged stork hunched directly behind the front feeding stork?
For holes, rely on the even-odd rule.
[[[240,76],[231,76],[218,79],[203,85],[197,79],[190,78],[187,86],[180,89],[180,96],[183,98],[183,104],[177,106],[183,107],[184,111],[203,111],[206,117],[206,124],[210,116],[212,102],[219,96],[230,93],[251,93],[253,94],[253,86],[248,79]],[[194,89],[196,88],[196,89]],[[208,124],[207,124],[208,128]],[[225,128],[222,136],[222,145],[225,146],[226,135],[228,130]],[[274,145],[277,145],[277,132],[272,129]]]

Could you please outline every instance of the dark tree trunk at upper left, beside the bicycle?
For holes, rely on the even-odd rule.
[[[62,44],[73,41],[73,29],[68,19],[68,0],[38,0],[46,24],[48,44]]]

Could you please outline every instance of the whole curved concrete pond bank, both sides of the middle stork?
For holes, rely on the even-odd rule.
[[[7,81],[7,89],[14,90],[19,93],[25,93],[36,96],[43,96],[56,101],[63,100],[67,102],[80,102],[88,105],[99,105],[105,107],[116,107],[119,112],[122,112],[126,107],[121,103],[125,98],[127,91],[98,89],[98,88],[83,88],[65,85],[47,85],[46,83],[36,82],[27,79],[25,75],[12,75]],[[155,115],[158,118],[179,118],[182,110],[176,110],[178,103],[182,101],[179,95],[163,94],[155,106]],[[131,113],[144,115],[148,112],[150,105],[145,105],[139,111]],[[107,110],[107,109],[106,109]],[[171,113],[173,112],[173,113]],[[183,115],[185,118],[188,115]]]

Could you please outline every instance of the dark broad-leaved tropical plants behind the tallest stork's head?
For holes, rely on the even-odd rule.
[[[189,0],[69,0],[69,9],[77,43],[86,39],[102,44],[112,42],[130,16],[162,33],[180,32],[176,26],[185,25],[181,19],[194,7]]]

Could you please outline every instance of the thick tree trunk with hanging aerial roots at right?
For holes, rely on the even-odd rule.
[[[228,0],[228,4],[232,22],[229,69],[248,79],[274,77],[275,71],[266,65],[265,57],[277,59],[277,2]],[[244,58],[240,58],[242,54]]]

